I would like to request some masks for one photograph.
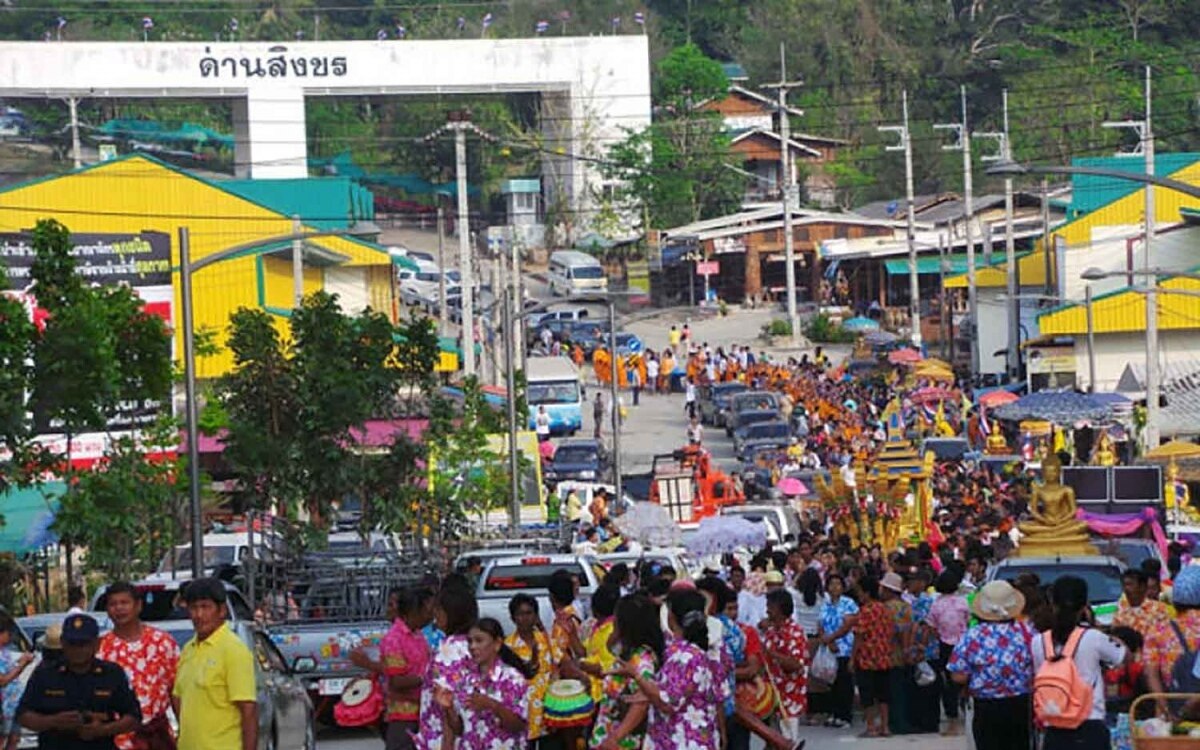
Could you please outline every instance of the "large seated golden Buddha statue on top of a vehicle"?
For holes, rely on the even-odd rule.
[[[1062,463],[1050,454],[1042,462],[1042,484],[1030,498],[1032,521],[1019,524],[1018,557],[1097,554],[1087,524],[1075,518],[1075,491],[1061,482]]]

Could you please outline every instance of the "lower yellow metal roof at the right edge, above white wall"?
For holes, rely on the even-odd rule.
[[[1158,284],[1158,329],[1200,329],[1200,296],[1171,294],[1184,289],[1200,294],[1200,281],[1166,278]],[[1146,330],[1146,294],[1141,289],[1118,289],[1092,299],[1092,324],[1097,334]],[[1087,310],[1079,302],[1064,305],[1038,316],[1042,335],[1076,336],[1087,332]]]

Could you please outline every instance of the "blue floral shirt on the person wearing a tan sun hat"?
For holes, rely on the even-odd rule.
[[[979,623],[967,630],[946,668],[968,674],[967,686],[977,698],[1027,695],[1033,686],[1033,653],[1016,623]]]

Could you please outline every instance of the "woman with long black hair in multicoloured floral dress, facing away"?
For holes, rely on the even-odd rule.
[[[659,626],[659,608],[641,594],[617,604],[614,635],[620,641],[619,658],[642,679],[654,679],[666,646]],[[605,676],[596,724],[589,748],[599,750],[641,750],[650,706],[637,680],[619,671]]]

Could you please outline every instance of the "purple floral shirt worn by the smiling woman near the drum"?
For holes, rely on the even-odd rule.
[[[527,732],[509,732],[500,718],[490,710],[474,710],[468,704],[472,695],[480,692],[500,702],[523,719],[529,716],[529,680],[523,674],[497,661],[488,674],[470,670],[455,685],[454,702],[462,715],[462,737],[456,750],[523,750]]]

